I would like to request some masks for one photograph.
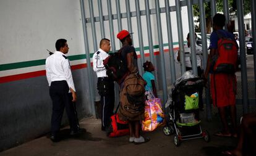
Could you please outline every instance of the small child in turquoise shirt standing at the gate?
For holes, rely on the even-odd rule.
[[[147,85],[145,86],[145,90],[147,92],[151,92],[153,94],[153,96],[155,96],[156,98],[157,93],[156,93],[156,86],[155,86],[155,76],[153,75],[153,72],[155,70],[155,67],[153,66],[153,64],[150,61],[146,61],[143,64],[143,68],[145,73],[143,74],[143,79],[145,81],[147,81]]]

